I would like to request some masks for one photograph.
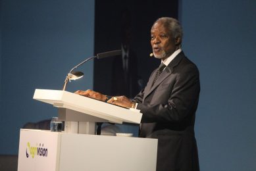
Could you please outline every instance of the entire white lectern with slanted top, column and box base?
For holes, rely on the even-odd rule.
[[[95,122],[140,124],[139,110],[59,90],[36,89],[34,99],[59,108],[64,132],[20,130],[18,170],[155,170],[157,139],[94,134]]]

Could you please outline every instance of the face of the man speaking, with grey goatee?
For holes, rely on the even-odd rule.
[[[166,59],[176,50],[175,40],[162,22],[157,22],[151,29],[151,46],[157,59]]]

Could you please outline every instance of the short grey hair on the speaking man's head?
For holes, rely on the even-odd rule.
[[[172,37],[174,39],[176,39],[177,37],[180,37],[180,42],[182,42],[183,31],[182,31],[182,26],[180,25],[180,22],[178,22],[178,20],[176,20],[175,18],[171,18],[171,17],[161,17],[155,21],[153,26],[157,22],[163,23],[163,25],[165,26],[165,28],[168,29],[168,31],[170,32]]]

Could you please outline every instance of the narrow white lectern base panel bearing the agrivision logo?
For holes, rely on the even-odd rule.
[[[18,171],[59,170],[59,141],[57,132],[20,130]]]

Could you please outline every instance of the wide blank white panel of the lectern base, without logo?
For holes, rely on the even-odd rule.
[[[153,171],[157,139],[63,134],[60,170]]]

